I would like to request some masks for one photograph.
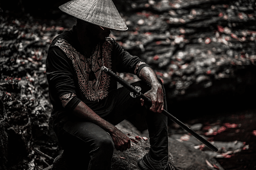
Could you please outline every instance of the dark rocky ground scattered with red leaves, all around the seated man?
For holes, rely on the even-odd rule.
[[[170,123],[171,138],[214,157],[224,169],[255,169],[255,0],[117,4],[129,29],[111,36],[156,71],[171,113],[220,150],[208,151]],[[0,169],[42,170],[61,150],[50,131],[44,61],[51,40],[75,20],[1,14]],[[119,75],[128,82],[138,80]]]

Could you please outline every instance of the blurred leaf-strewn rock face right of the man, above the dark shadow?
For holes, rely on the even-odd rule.
[[[254,6],[253,0],[134,1],[124,17],[128,31],[113,36],[154,68],[170,100],[235,93],[241,82],[255,83]],[[251,67],[241,80],[241,70]]]

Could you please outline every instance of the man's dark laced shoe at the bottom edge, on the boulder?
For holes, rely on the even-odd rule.
[[[140,170],[176,170],[176,168],[168,161],[168,156],[161,161],[155,161],[150,158],[149,153],[144,155],[137,161]]]

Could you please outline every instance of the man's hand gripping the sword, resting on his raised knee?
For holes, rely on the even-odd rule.
[[[152,106],[149,108],[152,112],[161,113],[163,110],[163,90],[161,84],[155,84],[149,91],[144,94],[152,101]],[[144,105],[144,100],[140,99],[141,106]]]

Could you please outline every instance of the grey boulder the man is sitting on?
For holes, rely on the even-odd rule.
[[[131,139],[131,148],[124,152],[114,150],[111,170],[139,170],[136,162],[147,153],[146,148],[150,147],[149,139],[140,136],[140,132],[128,121],[123,121],[116,127]],[[214,158],[194,149],[191,145],[170,137],[168,141],[169,161],[177,170],[224,170]],[[56,157],[54,162],[60,159],[61,155]],[[58,165],[65,167],[63,163]],[[44,170],[50,170],[50,167]]]

